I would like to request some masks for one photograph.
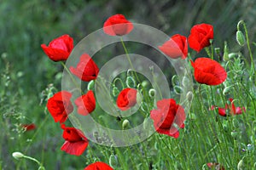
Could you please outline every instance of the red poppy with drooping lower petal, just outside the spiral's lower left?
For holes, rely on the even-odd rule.
[[[66,127],[65,124],[62,124],[61,128],[64,130],[62,137],[65,139],[65,143],[61,146],[61,150],[74,156],[82,155],[89,144],[88,139],[79,129]]]

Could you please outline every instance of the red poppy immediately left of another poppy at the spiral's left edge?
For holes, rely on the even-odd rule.
[[[55,122],[63,123],[67,120],[67,115],[73,111],[73,105],[70,101],[72,94],[67,91],[61,91],[53,95],[47,102],[47,108]]]

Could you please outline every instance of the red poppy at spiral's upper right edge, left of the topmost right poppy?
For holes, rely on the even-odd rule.
[[[179,57],[186,59],[188,55],[187,37],[176,34],[158,48],[172,59],[177,59]]]

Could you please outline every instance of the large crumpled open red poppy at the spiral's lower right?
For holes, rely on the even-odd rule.
[[[186,118],[183,107],[177,105],[174,99],[161,99],[156,105],[157,109],[150,111],[156,132],[177,138],[177,127],[183,128]]]

